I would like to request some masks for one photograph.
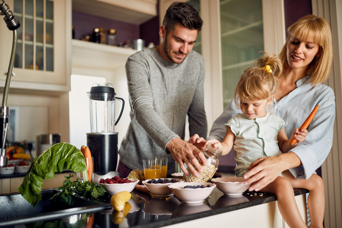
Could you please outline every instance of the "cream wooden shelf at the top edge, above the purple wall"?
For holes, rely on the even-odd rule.
[[[72,0],[72,10],[140,25],[157,16],[157,0]]]

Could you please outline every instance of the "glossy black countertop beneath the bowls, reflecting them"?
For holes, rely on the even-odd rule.
[[[294,189],[294,195],[305,194],[306,189]],[[276,201],[270,193],[246,191],[240,196],[224,195],[215,188],[212,194],[200,204],[181,203],[176,197],[153,197],[150,194],[133,190],[129,203],[132,208],[120,225],[112,222],[113,209],[94,213],[93,228],[158,228],[178,224],[229,211]],[[107,200],[110,202],[110,199]],[[112,215],[113,214],[113,215]],[[78,214],[57,220],[42,221],[14,227],[78,227],[84,215]],[[84,226],[84,224],[83,224]]]

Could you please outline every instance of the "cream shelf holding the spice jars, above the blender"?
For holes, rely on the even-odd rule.
[[[72,66],[116,69],[126,64],[127,58],[137,50],[88,41],[72,40]]]

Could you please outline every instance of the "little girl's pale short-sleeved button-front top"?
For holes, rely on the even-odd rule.
[[[278,146],[278,132],[286,125],[276,114],[250,119],[238,113],[226,123],[235,135],[235,174],[243,176],[252,162],[261,157],[282,154]]]

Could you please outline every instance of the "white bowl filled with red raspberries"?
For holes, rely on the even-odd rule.
[[[99,182],[99,184],[102,185],[110,195],[114,195],[122,191],[131,192],[137,183],[139,183],[138,179],[120,178],[118,176],[101,179]]]

